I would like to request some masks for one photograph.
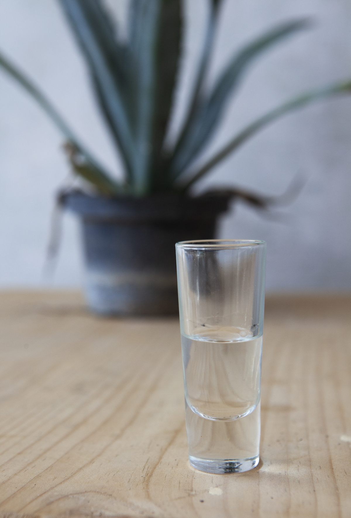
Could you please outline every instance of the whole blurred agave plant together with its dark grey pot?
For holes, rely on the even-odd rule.
[[[103,314],[177,311],[174,243],[215,237],[216,220],[233,197],[265,207],[264,197],[239,190],[191,196],[194,182],[284,113],[318,98],[351,92],[351,81],[329,85],[269,111],[200,167],[225,105],[251,63],[283,38],[309,25],[293,20],[240,49],[210,91],[204,88],[220,0],[210,15],[187,117],[172,148],[165,146],[182,38],[181,0],[130,0],[128,42],[101,0],[59,0],[90,71],[91,81],[123,159],[117,181],[73,134],[49,100],[8,59],[0,65],[37,100],[66,139],[73,171],[92,189],[61,193],[59,202],[83,222],[89,306]]]

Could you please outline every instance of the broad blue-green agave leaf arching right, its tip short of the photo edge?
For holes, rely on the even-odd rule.
[[[181,174],[203,149],[222,117],[229,95],[237,87],[239,80],[251,62],[282,38],[306,28],[309,24],[310,22],[306,19],[280,24],[243,47],[233,57],[210,95],[197,102],[195,112],[187,121],[186,128],[175,148],[170,173],[172,179]]]

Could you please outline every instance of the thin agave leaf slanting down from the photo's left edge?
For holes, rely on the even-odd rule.
[[[74,135],[71,128],[68,126],[66,121],[60,116],[57,112],[56,108],[51,104],[49,99],[39,90],[39,88],[26,77],[26,75],[13,63],[11,63],[7,57],[5,57],[2,53],[0,53],[0,66],[7,71],[7,73],[15,79],[21,86],[30,94],[30,96],[36,100],[39,106],[47,113],[50,119],[54,122],[58,130],[66,137],[66,139],[70,142],[71,146],[79,151],[79,153],[84,157],[84,161],[87,167],[90,167],[90,181],[95,184],[99,189],[99,185],[101,185],[101,181],[105,183],[105,185],[110,185],[111,190],[109,194],[113,194],[120,189],[120,186],[114,180],[111,180],[109,175],[103,170],[103,167],[98,164],[98,162],[90,155],[88,151],[84,149],[84,146],[79,142],[79,139]],[[78,171],[77,171],[78,172]],[[83,175],[84,176],[84,175]],[[104,188],[105,189],[105,188]]]

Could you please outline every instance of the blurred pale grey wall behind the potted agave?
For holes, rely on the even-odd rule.
[[[109,5],[125,17],[125,0],[109,0]],[[186,3],[186,57],[171,134],[186,107],[205,6],[205,0]],[[348,0],[226,0],[209,82],[234,49],[273,23],[297,16],[312,16],[313,30],[286,40],[255,63],[206,156],[294,94],[351,76]],[[120,175],[85,64],[57,3],[0,0],[0,48],[35,78],[100,160]],[[64,217],[55,277],[42,277],[54,192],[69,174],[62,138],[2,71],[0,91],[0,286],[80,286],[80,231],[70,214]],[[199,190],[237,185],[280,194],[297,173],[306,177],[281,221],[237,203],[221,222],[220,237],[268,242],[267,291],[351,289],[350,144],[351,97],[318,103],[271,125],[199,184]]]

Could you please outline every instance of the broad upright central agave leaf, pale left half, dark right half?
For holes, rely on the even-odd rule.
[[[133,0],[129,25],[134,190],[147,194],[162,180],[162,146],[180,50],[180,0]]]

